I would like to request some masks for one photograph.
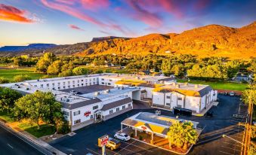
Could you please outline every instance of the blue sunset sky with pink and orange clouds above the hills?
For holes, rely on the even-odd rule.
[[[180,33],[256,20],[255,0],[0,0],[0,46]]]

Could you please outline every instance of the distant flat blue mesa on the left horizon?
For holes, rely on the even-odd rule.
[[[1,52],[20,52],[24,50],[46,50],[56,47],[56,44],[29,44],[28,46],[5,46],[0,47]]]

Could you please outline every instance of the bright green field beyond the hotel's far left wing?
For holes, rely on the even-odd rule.
[[[0,68],[0,77],[8,78],[12,81],[16,75],[29,75],[32,79],[42,78],[45,74],[36,73],[35,68]],[[57,75],[50,75],[50,78],[57,77]]]

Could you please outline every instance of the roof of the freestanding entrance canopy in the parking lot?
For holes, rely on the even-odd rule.
[[[149,112],[140,112],[134,116],[128,117],[121,122],[122,125],[131,126],[135,129],[153,132],[155,134],[167,136],[169,127],[173,123],[185,122],[188,120],[177,119],[174,117],[158,116]],[[196,129],[198,122],[193,122],[193,126]]]

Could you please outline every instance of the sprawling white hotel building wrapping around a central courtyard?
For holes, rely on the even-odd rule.
[[[72,131],[130,111],[133,109],[133,100],[151,99],[153,105],[162,108],[171,109],[177,106],[200,112],[217,99],[217,92],[211,87],[198,85],[198,88],[192,89],[192,84],[187,84],[186,87],[180,84],[180,90],[191,89],[198,92],[191,96],[191,93],[174,89],[170,91],[174,86],[172,84],[176,84],[173,77],[88,74],[1,84],[0,87],[9,87],[23,95],[38,90],[51,91],[55,99],[62,103],[64,117],[69,121]],[[74,94],[70,90],[82,93]]]

